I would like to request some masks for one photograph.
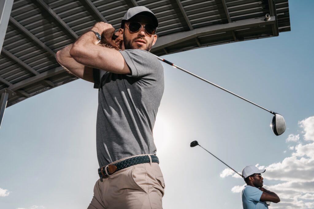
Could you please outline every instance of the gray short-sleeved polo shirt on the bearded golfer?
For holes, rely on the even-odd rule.
[[[99,166],[124,157],[156,154],[153,128],[164,92],[164,68],[142,49],[119,51],[131,74],[93,69],[98,88],[96,146]]]

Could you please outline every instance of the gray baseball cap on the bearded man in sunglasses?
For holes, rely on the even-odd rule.
[[[125,13],[125,15],[122,18],[121,28],[123,28],[124,23],[126,23],[129,19],[131,19],[135,15],[139,15],[139,14],[151,18],[153,20],[154,26],[156,28],[158,28],[158,20],[157,20],[155,14],[152,11],[150,11],[148,8],[144,7],[144,6],[138,6],[138,7],[129,8],[127,10],[127,13]]]

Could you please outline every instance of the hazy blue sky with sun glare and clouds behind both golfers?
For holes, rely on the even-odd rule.
[[[244,181],[205,150],[190,148],[193,140],[237,171],[265,166],[264,184],[281,198],[269,208],[314,208],[313,6],[289,1],[291,32],[279,37],[163,56],[280,113],[287,123],[275,136],[272,114],[165,64],[154,128],[164,208],[242,208]],[[93,84],[76,80],[6,109],[0,208],[88,206],[98,178],[97,105]]]

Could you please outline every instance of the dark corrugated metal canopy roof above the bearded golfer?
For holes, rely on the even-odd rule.
[[[134,6],[159,19],[151,50],[159,56],[290,31],[288,0],[14,0],[0,55],[1,101],[8,97],[9,107],[78,79],[57,63],[56,52],[98,21],[118,29]]]

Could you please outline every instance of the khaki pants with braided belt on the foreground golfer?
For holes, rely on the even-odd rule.
[[[130,166],[96,181],[88,209],[162,209],[164,189],[158,163]]]

